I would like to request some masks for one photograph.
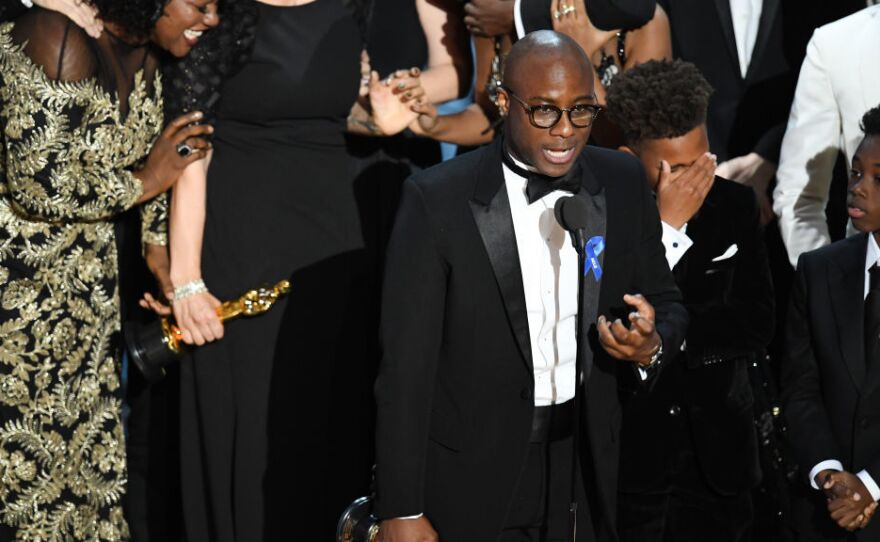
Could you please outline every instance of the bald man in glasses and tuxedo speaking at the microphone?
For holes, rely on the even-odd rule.
[[[615,540],[617,373],[650,381],[683,340],[641,165],[584,147],[597,108],[583,51],[532,33],[504,85],[503,137],[404,186],[376,382],[385,542],[562,541],[570,517],[578,541]],[[569,196],[587,209],[586,268],[554,219]]]

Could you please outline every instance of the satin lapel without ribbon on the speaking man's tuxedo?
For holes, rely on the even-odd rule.
[[[529,374],[532,372],[532,346],[529,338],[529,320],[526,310],[526,296],[523,291],[522,271],[519,253],[516,248],[516,234],[513,218],[510,215],[510,201],[504,187],[504,173],[501,169],[501,145],[497,138],[484,154],[476,172],[477,186],[471,200],[471,212],[486,254],[495,272],[498,290],[504,300],[504,309],[511,331],[516,337]]]

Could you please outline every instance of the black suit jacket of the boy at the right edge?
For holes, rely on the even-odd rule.
[[[880,481],[880,360],[865,360],[866,234],[803,254],[786,319],[782,399],[788,432],[804,475],[839,459],[852,473]],[[841,536],[820,491],[796,509],[801,529]],[[876,517],[859,540],[880,540]]]

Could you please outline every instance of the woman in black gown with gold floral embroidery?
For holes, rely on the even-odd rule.
[[[165,242],[211,128],[162,130],[155,46],[185,55],[214,1],[86,0],[98,39],[39,8],[0,26],[0,540],[128,538],[112,221],[142,204]]]

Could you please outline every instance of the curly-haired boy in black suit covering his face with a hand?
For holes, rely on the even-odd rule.
[[[773,287],[752,190],[715,177],[711,86],[689,62],[621,74],[609,115],[657,196],[666,258],[690,313],[686,349],[623,400],[621,542],[748,540],[760,479],[747,364],[773,335]],[[651,449],[645,454],[645,449]]]

